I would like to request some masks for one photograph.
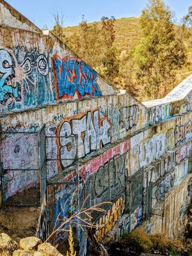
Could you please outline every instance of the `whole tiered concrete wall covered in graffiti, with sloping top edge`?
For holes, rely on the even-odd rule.
[[[36,169],[46,147],[47,200],[38,236],[47,235],[47,218],[51,232],[58,216],[68,218],[90,195],[87,207],[112,202],[106,212],[93,214],[102,243],[106,234],[116,241],[146,220],[148,232],[176,237],[175,223],[191,196],[192,78],[164,99],[142,104],[109,85],[51,33],[2,0],[0,6],[7,17],[0,19],[4,201],[42,183]],[[87,237],[80,235],[83,255]],[[61,238],[65,234],[56,241]]]

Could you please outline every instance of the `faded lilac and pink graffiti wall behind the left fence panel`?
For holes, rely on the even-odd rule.
[[[10,133],[1,143],[2,168],[6,170],[3,199],[6,201],[18,191],[38,183],[38,138],[35,133]]]

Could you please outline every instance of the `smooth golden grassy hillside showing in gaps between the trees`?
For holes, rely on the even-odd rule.
[[[101,26],[101,22],[96,22]],[[88,25],[92,26],[92,23]],[[67,38],[70,38],[74,33],[79,33],[80,27],[73,26],[63,28],[65,35]],[[139,17],[129,17],[116,19],[115,21],[115,42],[114,45],[116,48],[122,52],[127,50],[128,52],[133,49],[138,41],[140,40],[140,19]],[[190,47],[189,47],[190,45]],[[186,46],[186,65],[177,70],[177,76],[175,79],[175,83],[168,86],[168,91],[172,90],[174,86],[177,86],[181,81],[183,81],[186,77],[188,77],[192,73],[192,44],[189,42],[185,42]],[[81,57],[81,56],[80,56]],[[140,93],[139,93],[140,94]],[[143,100],[142,95],[135,95],[138,99]]]

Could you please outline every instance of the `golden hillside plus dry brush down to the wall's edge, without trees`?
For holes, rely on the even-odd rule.
[[[92,22],[88,23],[88,28],[91,28],[92,26],[97,26],[98,28],[102,28],[102,22]],[[113,79],[113,81],[110,81],[108,77],[102,73],[102,69],[100,67],[98,68],[97,65],[93,65],[92,63],[89,63],[89,61],[84,58],[84,56],[81,56],[81,52],[77,52],[77,48],[73,47],[74,43],[70,40],[72,36],[79,36],[81,33],[81,25],[79,26],[73,26],[73,27],[67,27],[63,28],[63,34],[66,38],[67,45],[72,48],[77,54],[83,58],[86,62],[88,62],[90,65],[92,65],[93,68],[97,70],[104,78],[106,78],[109,82],[115,84],[118,88],[126,88],[131,92],[137,99],[139,100],[151,100],[155,99],[155,97],[152,97],[151,95],[143,95],[141,89],[141,84],[138,83],[137,79],[134,76],[130,76],[129,73],[134,72],[134,64],[129,64],[128,67],[126,66],[126,60],[130,60],[130,52],[134,50],[136,45],[138,45],[138,42],[140,42],[141,39],[141,29],[140,29],[140,18],[139,17],[129,17],[129,18],[122,18],[122,19],[116,19],[114,22],[114,28],[115,28],[115,40],[113,42],[113,46],[118,51],[118,61],[119,61],[119,67],[120,72],[118,74],[118,77]],[[177,34],[180,33],[178,26],[175,26],[175,29],[177,31]],[[72,42],[72,43],[71,43]],[[81,42],[79,42],[81,44]],[[170,92],[177,84],[179,84],[181,81],[183,81],[186,77],[188,77],[192,72],[192,44],[189,42],[188,39],[184,40],[184,46],[186,51],[186,61],[182,67],[177,68],[175,71],[175,80],[168,83],[166,86],[166,90],[161,90],[158,97],[164,97],[168,92]],[[123,59],[124,55],[128,56],[128,58]],[[123,77],[124,72],[127,72],[126,76]],[[122,78],[122,79],[121,79]]]

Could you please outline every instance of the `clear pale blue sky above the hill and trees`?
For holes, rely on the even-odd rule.
[[[46,24],[49,29],[54,22],[52,13],[64,15],[64,26],[75,26],[81,22],[84,14],[88,22],[100,20],[102,16],[111,15],[116,19],[140,16],[146,0],[6,0],[20,13],[34,22],[39,28]],[[191,0],[164,0],[175,12],[177,18],[188,12]]]

